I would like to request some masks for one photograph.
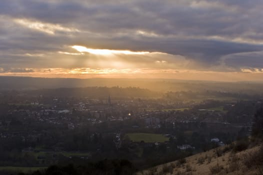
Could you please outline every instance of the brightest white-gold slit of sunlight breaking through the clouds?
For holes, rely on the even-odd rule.
[[[79,52],[89,52],[91,54],[147,54],[148,51],[130,51],[130,50],[110,50],[110,49],[93,49],[87,48],[81,45],[73,45],[72,48],[76,49]]]

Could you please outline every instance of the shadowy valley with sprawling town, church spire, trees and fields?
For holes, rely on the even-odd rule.
[[[98,87],[81,90],[90,88]],[[209,92],[218,99],[182,100],[195,93],[148,97],[145,89],[103,87],[96,97],[54,95],[54,90],[64,89],[1,91],[1,166],[124,158],[144,168],[249,135],[253,114],[263,102],[260,96],[224,99],[218,92]]]

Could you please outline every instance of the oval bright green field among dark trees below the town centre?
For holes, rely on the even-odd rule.
[[[148,143],[164,142],[169,140],[168,137],[165,137],[162,134],[155,134],[155,133],[126,133],[124,138],[127,137],[131,141],[139,142],[143,140],[144,142],[148,142]]]

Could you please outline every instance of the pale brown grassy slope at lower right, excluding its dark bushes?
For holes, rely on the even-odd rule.
[[[223,148],[219,147],[219,148]],[[172,161],[166,164],[161,164],[161,165],[157,165],[151,169],[157,169],[157,171],[155,171],[153,174],[165,174],[162,170],[163,166],[168,166],[171,167],[171,173],[167,172],[166,174],[176,174],[176,175],[180,175],[180,174],[260,174],[259,170],[256,166],[251,167],[251,168],[247,168],[244,164],[243,164],[243,160],[244,160],[244,155],[247,153],[252,153],[253,151],[256,151],[259,148],[259,146],[255,146],[249,149],[246,149],[244,151],[241,152],[237,152],[237,153],[232,153],[231,151],[225,152],[223,153],[221,156],[217,156],[216,154],[216,149],[211,149],[209,151],[206,152],[202,152],[202,153],[198,153],[189,157],[186,157],[185,163],[177,163],[178,160],[176,161]],[[238,158],[236,161],[238,164],[238,168],[236,168],[235,170],[230,170],[231,167],[233,166],[233,163],[231,161],[231,159],[233,159],[233,157],[236,155],[236,157]],[[208,157],[211,157],[210,162],[208,162]],[[199,163],[198,159],[200,158],[204,158],[204,162],[203,163]],[[211,173],[210,168],[211,167],[216,167],[218,165],[220,166],[220,172],[218,173]],[[173,164],[173,167],[172,165]],[[180,164],[180,165],[177,165]],[[190,167],[191,170],[186,170],[187,166]],[[260,165],[260,169],[262,170],[263,167],[262,165]],[[137,175],[141,175],[141,174],[150,174],[149,173],[149,169],[137,172]]]

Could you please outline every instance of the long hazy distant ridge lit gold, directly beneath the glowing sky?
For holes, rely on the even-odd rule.
[[[90,86],[119,86],[140,87],[153,91],[227,91],[240,93],[262,93],[262,82],[220,82],[178,79],[147,79],[147,78],[42,78],[0,76],[0,90],[10,89],[41,89],[59,87],[90,87]]]

